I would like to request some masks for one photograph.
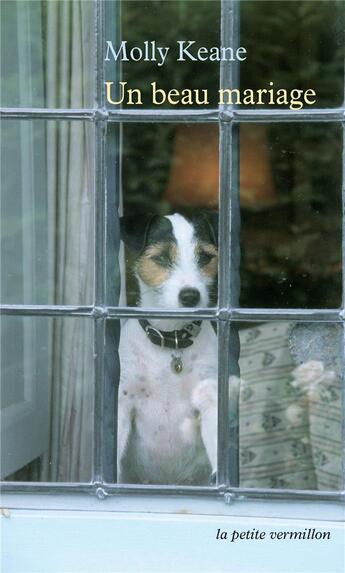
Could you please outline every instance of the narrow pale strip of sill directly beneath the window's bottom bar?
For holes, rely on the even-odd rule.
[[[97,511],[171,515],[262,517],[344,521],[345,504],[335,501],[236,500],[163,495],[114,495],[105,499],[88,494],[2,493],[1,507],[18,510]]]

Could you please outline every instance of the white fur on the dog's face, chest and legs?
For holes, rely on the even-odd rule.
[[[155,293],[140,284],[141,305],[179,306],[184,287],[198,288],[207,306],[206,279],[194,257],[193,227],[180,215],[168,217],[177,239],[176,268]],[[157,328],[182,328],[188,321],[150,321]],[[174,350],[160,348],[137,320],[129,319],[120,340],[118,480],[153,484],[208,485],[217,460],[217,338],[203,321],[192,346],[180,349],[184,368],[171,369]]]

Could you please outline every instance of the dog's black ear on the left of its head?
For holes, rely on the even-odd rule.
[[[120,217],[121,240],[134,253],[139,254],[145,248],[155,217],[152,213]]]

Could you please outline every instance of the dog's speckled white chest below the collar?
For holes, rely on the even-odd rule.
[[[212,329],[209,336],[216,340]],[[216,376],[216,353],[215,345],[203,340],[205,333],[199,337],[176,352],[152,344],[137,323],[123,329],[120,392],[130,401],[137,433],[147,445],[157,447],[159,439],[163,448],[180,448],[195,443],[200,433],[192,397],[199,382]],[[180,373],[175,357],[182,363]]]

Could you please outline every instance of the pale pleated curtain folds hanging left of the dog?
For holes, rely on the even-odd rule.
[[[88,107],[93,6],[47,2],[46,106]],[[91,126],[47,126],[50,259],[56,304],[92,304],[93,173]],[[89,319],[55,321],[52,332],[50,452],[42,478],[89,481],[92,458],[93,352]],[[49,463],[48,463],[49,462]]]

